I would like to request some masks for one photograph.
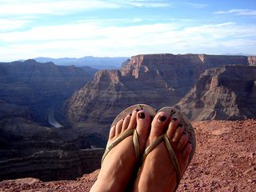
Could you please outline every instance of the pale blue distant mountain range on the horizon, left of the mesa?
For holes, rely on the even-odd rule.
[[[117,70],[128,58],[98,58],[86,56],[83,58],[34,58],[37,62],[54,62],[58,66],[90,66],[98,70]]]

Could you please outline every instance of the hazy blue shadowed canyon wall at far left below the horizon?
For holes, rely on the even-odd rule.
[[[52,62],[0,63],[0,99],[30,108],[34,121],[47,122],[50,107],[58,107],[92,78],[90,70],[56,66]]]

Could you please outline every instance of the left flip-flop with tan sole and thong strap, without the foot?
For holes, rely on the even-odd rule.
[[[128,108],[123,110],[120,114],[118,114],[116,118],[114,118],[114,121],[111,127],[115,126],[121,119],[126,118],[128,114],[131,114],[136,109],[145,110],[148,114],[150,114],[151,117],[154,117],[154,115],[156,114],[155,110],[151,106],[148,106],[146,104],[137,104],[134,106],[129,106]],[[102,162],[104,161],[104,159],[106,158],[106,155],[110,152],[110,150],[114,148],[114,146],[117,146],[119,142],[122,142],[122,140],[124,140],[125,138],[129,137],[132,134],[133,134],[133,141],[134,141],[135,156],[138,161],[138,159],[140,158],[138,133],[136,129],[133,129],[133,130],[125,130],[124,132],[122,132],[122,134],[118,136],[118,138],[116,138],[113,142],[111,142],[109,145],[106,146],[105,153],[102,156]]]

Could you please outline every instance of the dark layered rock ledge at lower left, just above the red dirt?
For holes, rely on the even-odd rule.
[[[76,179],[98,169],[103,153],[103,149],[53,150],[2,161],[0,181],[24,177],[39,178],[42,181]]]

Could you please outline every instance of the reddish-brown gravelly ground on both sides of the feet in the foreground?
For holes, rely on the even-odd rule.
[[[178,191],[254,191],[256,119],[193,122],[193,126],[197,149]],[[0,191],[89,191],[97,175],[95,170],[77,181],[6,180],[0,182]]]

